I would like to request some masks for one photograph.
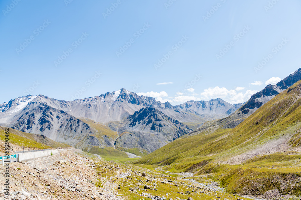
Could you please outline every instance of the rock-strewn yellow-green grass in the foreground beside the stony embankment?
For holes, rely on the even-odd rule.
[[[102,165],[102,166],[101,166]],[[106,167],[106,163],[99,161],[99,164],[96,170],[98,171],[98,175],[101,175],[104,178],[110,178],[117,185],[120,184],[120,189],[118,189],[119,195],[125,197],[126,199],[138,200],[138,199],[148,199],[146,197],[141,197],[141,193],[150,193],[151,195],[156,195],[163,197],[166,199],[187,199],[188,197],[192,197],[194,200],[211,200],[213,198],[218,198],[224,200],[225,198],[229,200],[237,200],[247,199],[240,196],[233,196],[229,193],[225,193],[222,191],[209,191],[204,189],[196,188],[196,184],[183,180],[178,177],[178,175],[171,175],[165,172],[160,172],[154,170],[157,166],[144,166],[141,164],[119,164],[120,170],[118,172],[111,170],[110,167]],[[125,178],[116,178],[116,173],[127,172],[129,175]],[[147,176],[141,176],[141,172],[146,172]],[[193,178],[189,178],[193,179]],[[162,183],[165,181],[165,183]],[[168,182],[172,181],[172,182]],[[177,183],[175,183],[177,181]],[[198,180],[198,183],[210,183],[211,180]],[[98,183],[95,183],[98,186]],[[156,184],[157,190],[142,190],[144,185],[148,185],[154,188],[153,184]],[[177,184],[177,186],[175,186]],[[193,186],[192,186],[193,185]],[[192,186],[192,187],[191,187]],[[198,185],[200,186],[200,185]],[[100,187],[103,187],[100,184]],[[129,191],[129,188],[132,187],[136,191]],[[137,188],[138,187],[138,188]],[[189,195],[185,195],[186,191],[189,191]],[[184,194],[181,194],[183,192]],[[168,193],[168,195],[166,195]]]

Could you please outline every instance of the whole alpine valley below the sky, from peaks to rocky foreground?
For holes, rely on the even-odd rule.
[[[173,106],[122,88],[74,101],[28,95],[0,111],[11,149],[68,149],[54,175],[15,163],[22,180],[23,169],[44,172],[22,184],[48,199],[301,199],[301,68],[236,105]]]

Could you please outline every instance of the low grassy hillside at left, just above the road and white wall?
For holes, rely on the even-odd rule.
[[[6,127],[2,127],[0,126],[0,130],[4,131]],[[37,134],[32,134],[32,133],[25,133],[25,132],[22,132],[22,131],[18,131],[18,130],[15,130],[15,129],[12,129],[12,128],[9,128],[9,132],[10,133],[13,133],[14,135],[16,136],[21,136],[22,138],[26,138],[26,139],[29,139],[29,140],[32,140],[32,141],[35,141],[37,143],[42,143],[48,147],[53,147],[53,148],[67,148],[67,147],[71,147],[70,145],[66,145],[66,144],[63,144],[63,143],[60,143],[60,142],[55,142],[54,140],[51,140],[47,137],[43,137],[43,136],[40,136],[40,135],[37,135]],[[23,146],[23,145],[21,145]]]

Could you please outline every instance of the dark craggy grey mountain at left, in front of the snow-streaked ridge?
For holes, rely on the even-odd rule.
[[[99,137],[88,124],[42,103],[21,115],[12,128],[26,133],[45,135],[56,142],[81,149],[89,146],[113,146],[112,140],[107,139],[105,135]]]

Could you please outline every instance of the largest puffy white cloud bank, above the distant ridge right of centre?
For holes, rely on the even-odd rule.
[[[221,98],[229,103],[236,104],[244,103],[256,92],[256,90],[247,90],[245,93],[237,93],[235,90],[228,90],[227,88],[219,88],[216,86],[215,88],[205,89],[204,92],[201,92],[201,97],[206,101]]]

